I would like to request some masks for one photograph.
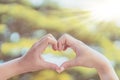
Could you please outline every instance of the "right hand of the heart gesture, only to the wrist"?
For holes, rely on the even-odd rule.
[[[106,61],[103,55],[68,34],[64,34],[61,38],[59,38],[58,47],[58,50],[60,51],[66,50],[68,47],[70,47],[76,53],[75,59],[62,64],[61,67],[64,67],[65,69],[74,66],[95,68],[98,66],[98,62],[101,63],[103,60]]]

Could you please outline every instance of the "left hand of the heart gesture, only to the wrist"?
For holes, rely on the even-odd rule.
[[[20,59],[20,64],[27,72],[38,71],[41,69],[54,69],[58,68],[57,65],[43,60],[41,54],[44,52],[48,45],[52,45],[53,49],[57,49],[57,41],[51,35],[44,36],[40,41],[35,43],[26,55]]]

